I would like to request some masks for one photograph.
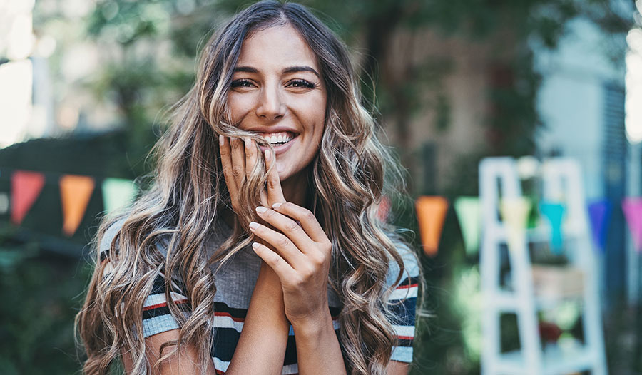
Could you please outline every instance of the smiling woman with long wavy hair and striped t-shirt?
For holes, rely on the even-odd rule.
[[[417,262],[377,215],[397,169],[361,99],[303,6],[213,36],[151,190],[98,230],[84,371],[406,374]]]

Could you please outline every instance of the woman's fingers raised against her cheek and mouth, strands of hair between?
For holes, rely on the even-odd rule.
[[[218,143],[220,146],[220,161],[223,165],[223,175],[225,176],[225,184],[228,185],[230,192],[230,201],[232,202],[232,209],[237,214],[243,212],[239,202],[239,190],[245,184],[245,180],[250,177],[252,169],[259,161],[259,149],[254,140],[245,138],[225,138],[223,135],[218,136]],[[274,158],[270,150],[265,150],[265,169],[270,171],[267,175],[267,189],[261,191],[260,201],[262,205],[270,207],[275,203],[285,202],[283,192],[281,190],[281,183],[276,166],[270,170],[274,165]]]

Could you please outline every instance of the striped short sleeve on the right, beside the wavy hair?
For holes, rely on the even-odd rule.
[[[409,247],[399,248],[399,254],[404,260],[402,278],[397,284],[394,284],[399,274],[399,266],[396,262],[391,263],[387,277],[390,287],[394,287],[388,299],[388,307],[392,312],[392,327],[398,339],[397,346],[392,348],[390,359],[410,363],[412,362],[412,343],[417,312],[419,265],[417,257]]]

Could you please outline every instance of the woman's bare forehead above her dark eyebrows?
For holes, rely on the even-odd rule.
[[[290,24],[277,24],[253,32],[243,41],[237,65],[258,70],[311,66],[319,71],[317,56]]]

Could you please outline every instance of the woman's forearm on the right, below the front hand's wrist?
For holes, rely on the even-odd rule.
[[[346,374],[339,339],[330,311],[304,324],[292,324],[297,343],[299,374]]]

